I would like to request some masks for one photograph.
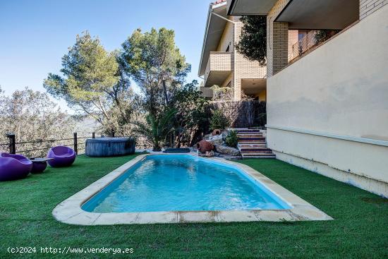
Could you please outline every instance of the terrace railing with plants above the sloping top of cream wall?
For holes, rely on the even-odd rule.
[[[339,30],[310,30],[305,37],[293,44],[291,52],[289,52],[289,61],[302,56],[309,49],[329,40],[338,32]]]

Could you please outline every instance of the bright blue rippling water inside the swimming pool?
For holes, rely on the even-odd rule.
[[[148,155],[82,208],[103,213],[281,210],[289,205],[233,165],[191,155]]]

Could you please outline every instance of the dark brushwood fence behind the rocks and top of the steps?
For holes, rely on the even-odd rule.
[[[211,109],[219,109],[224,113],[233,128],[262,127],[266,121],[266,103],[260,101],[219,101],[211,102]]]

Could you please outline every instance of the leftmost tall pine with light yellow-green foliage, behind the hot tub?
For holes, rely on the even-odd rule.
[[[119,52],[107,52],[98,38],[83,32],[63,56],[61,73],[63,77],[49,73],[44,88],[79,116],[92,117],[109,132],[121,128],[118,121],[128,121],[133,94]]]

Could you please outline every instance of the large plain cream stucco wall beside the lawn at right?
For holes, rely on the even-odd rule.
[[[388,5],[268,78],[267,126],[279,157],[388,195]]]

